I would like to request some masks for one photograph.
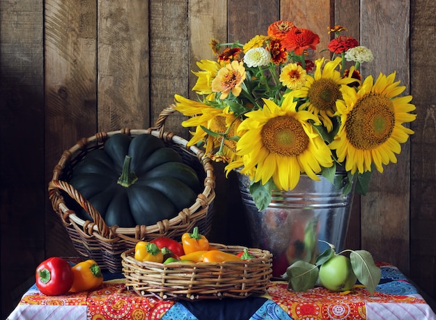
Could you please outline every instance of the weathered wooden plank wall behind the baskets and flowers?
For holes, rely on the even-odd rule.
[[[191,70],[213,58],[210,38],[243,42],[279,19],[318,33],[319,48],[327,26],[346,26],[375,55],[362,73],[396,70],[413,94],[416,133],[368,195],[355,196],[347,246],[436,296],[435,11],[433,0],[0,0],[2,317],[43,258],[75,254],[47,201],[62,151],[98,130],[150,127],[174,93],[192,96]],[[174,114],[166,128],[188,137],[180,121]],[[219,164],[216,174],[212,240],[244,244],[235,177]]]

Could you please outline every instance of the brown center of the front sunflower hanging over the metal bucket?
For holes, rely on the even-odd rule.
[[[309,137],[302,124],[292,116],[277,116],[268,120],[260,135],[268,151],[283,157],[299,155],[309,145]]]

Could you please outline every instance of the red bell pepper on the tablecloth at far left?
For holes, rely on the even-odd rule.
[[[36,287],[47,296],[66,294],[73,281],[71,265],[65,259],[52,257],[36,268]]]

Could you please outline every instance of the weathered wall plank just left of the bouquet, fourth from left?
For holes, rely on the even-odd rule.
[[[150,1],[150,120],[189,86],[188,1]],[[188,137],[182,114],[166,119],[166,130]]]

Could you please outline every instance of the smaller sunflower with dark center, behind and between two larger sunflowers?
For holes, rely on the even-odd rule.
[[[327,132],[333,130],[332,117],[336,112],[336,101],[342,98],[341,84],[350,84],[355,82],[355,79],[350,77],[343,78],[341,73],[336,68],[341,63],[341,57],[337,57],[334,61],[325,63],[324,58],[315,61],[316,71],[313,77],[306,77],[306,84],[302,88],[294,91],[296,98],[306,100],[301,106],[301,109],[307,109],[309,112],[319,116]]]

